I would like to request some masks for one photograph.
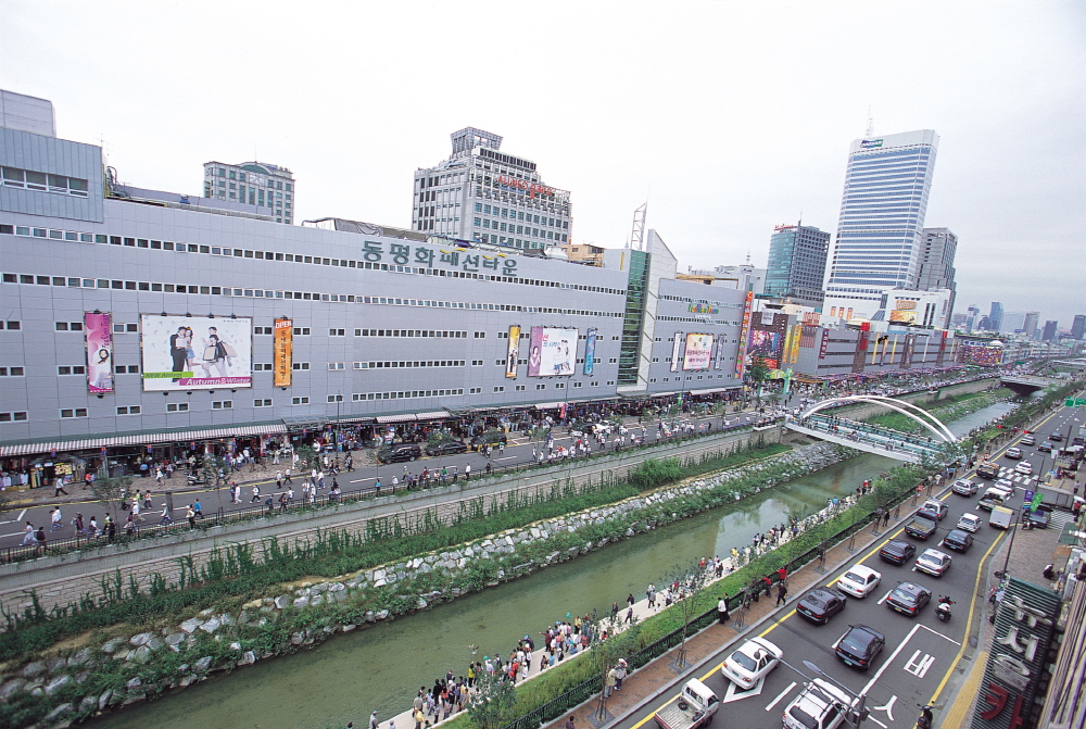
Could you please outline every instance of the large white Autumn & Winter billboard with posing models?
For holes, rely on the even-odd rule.
[[[253,320],[140,315],[143,391],[253,385]]]

